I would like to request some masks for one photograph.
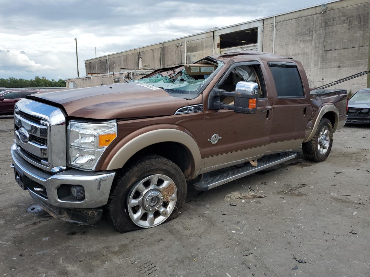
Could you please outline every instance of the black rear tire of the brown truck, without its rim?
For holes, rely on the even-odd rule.
[[[327,150],[324,154],[320,153],[319,151],[319,136],[323,127],[327,127],[327,129],[329,130],[329,146],[327,147]],[[319,126],[317,126],[316,133],[313,136],[312,140],[302,143],[302,150],[307,160],[322,162],[325,161],[326,158],[329,156],[330,151],[332,150],[332,145],[333,145],[332,123],[329,121],[329,119],[323,118],[322,120],[320,120]]]

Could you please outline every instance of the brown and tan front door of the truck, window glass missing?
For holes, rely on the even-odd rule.
[[[221,77],[215,88],[235,92],[240,81],[256,82],[259,85],[259,99],[255,114],[235,113],[232,110],[208,110],[205,108],[203,171],[243,163],[265,154],[270,141],[272,99],[268,98],[263,75],[258,62],[236,63]],[[234,99],[226,96],[220,99],[233,104]],[[204,101],[207,107],[208,99]]]

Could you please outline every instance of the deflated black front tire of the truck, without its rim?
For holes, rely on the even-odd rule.
[[[128,196],[135,184],[154,174],[168,176],[174,181],[177,189],[176,206],[164,222],[174,219],[179,215],[180,209],[186,199],[186,179],[184,173],[175,163],[162,156],[150,155],[142,157],[118,173],[112,184],[105,212],[109,222],[118,232],[125,233],[141,229],[129,216],[127,205]]]

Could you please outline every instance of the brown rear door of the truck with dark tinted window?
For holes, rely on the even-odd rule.
[[[268,62],[276,94],[268,154],[299,148],[310,113],[310,92],[294,62]],[[306,78],[305,76],[303,76]]]

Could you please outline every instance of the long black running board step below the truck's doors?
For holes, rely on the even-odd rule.
[[[252,165],[249,164],[245,167],[235,168],[211,178],[203,179],[202,181],[194,183],[194,189],[196,189],[197,191],[208,191],[208,189],[218,187],[220,185],[245,177],[255,172],[273,167],[274,165],[292,160],[296,156],[296,153],[291,152],[267,155],[258,160],[258,164],[256,167],[252,167]]]

